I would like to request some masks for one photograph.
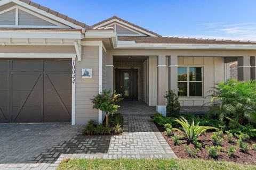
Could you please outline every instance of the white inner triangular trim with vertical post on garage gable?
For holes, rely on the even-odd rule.
[[[63,25],[63,24],[61,24],[59,22],[55,22],[55,21],[53,21],[53,20],[51,20],[49,18],[46,18],[46,17],[44,17],[42,15],[39,15],[39,14],[35,13],[33,11],[27,10],[26,8],[23,8],[23,7],[19,6],[19,5],[14,5],[14,6],[6,9],[4,11],[1,11],[0,15],[5,13],[5,12],[14,10],[14,9],[15,9],[15,25],[0,25],[1,28],[63,28],[63,29],[70,28],[67,25]],[[27,12],[27,13],[31,14],[31,15],[34,15],[34,16],[36,16],[36,17],[38,17],[40,19],[43,19],[43,20],[45,20],[47,22],[50,22],[50,23],[52,23],[54,25],[19,25],[19,10],[22,10],[24,12]]]

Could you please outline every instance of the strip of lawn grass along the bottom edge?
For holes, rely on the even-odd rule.
[[[64,169],[256,169],[253,165],[216,162],[202,159],[70,159],[63,160],[57,170]]]

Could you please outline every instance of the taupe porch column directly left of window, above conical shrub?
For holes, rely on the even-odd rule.
[[[174,90],[178,94],[178,56],[169,56],[169,90]]]

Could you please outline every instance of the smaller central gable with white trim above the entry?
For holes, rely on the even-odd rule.
[[[116,25],[118,25],[118,26],[116,27]],[[115,31],[117,32],[117,35],[119,35],[119,36],[162,37],[161,35],[158,35],[155,32],[152,32],[145,28],[139,27],[138,25],[135,25],[131,22],[125,21],[121,18],[118,18],[117,16],[113,16],[107,20],[104,20],[97,24],[92,25],[92,27],[94,27],[94,29],[97,29],[99,27],[111,27],[111,26],[115,27]],[[127,30],[129,30],[129,31],[127,31]]]

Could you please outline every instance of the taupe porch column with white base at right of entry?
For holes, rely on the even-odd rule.
[[[165,90],[166,90],[166,62],[165,55],[157,57],[157,103],[156,111],[166,116]]]

